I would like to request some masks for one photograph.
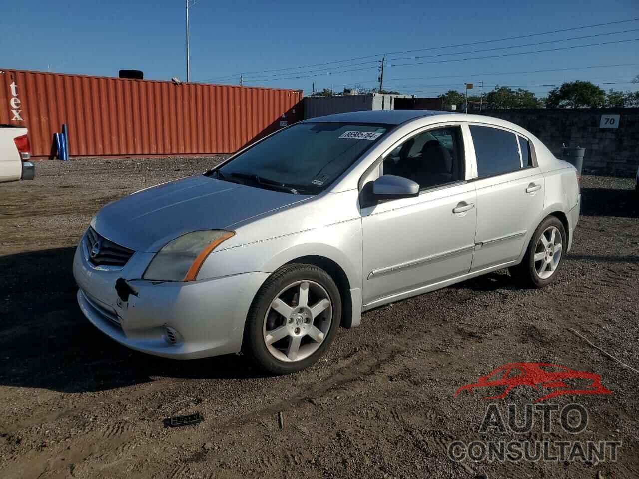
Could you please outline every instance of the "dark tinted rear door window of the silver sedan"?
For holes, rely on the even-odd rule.
[[[521,168],[519,145],[514,133],[490,126],[470,126],[475,145],[477,176],[492,176]]]

